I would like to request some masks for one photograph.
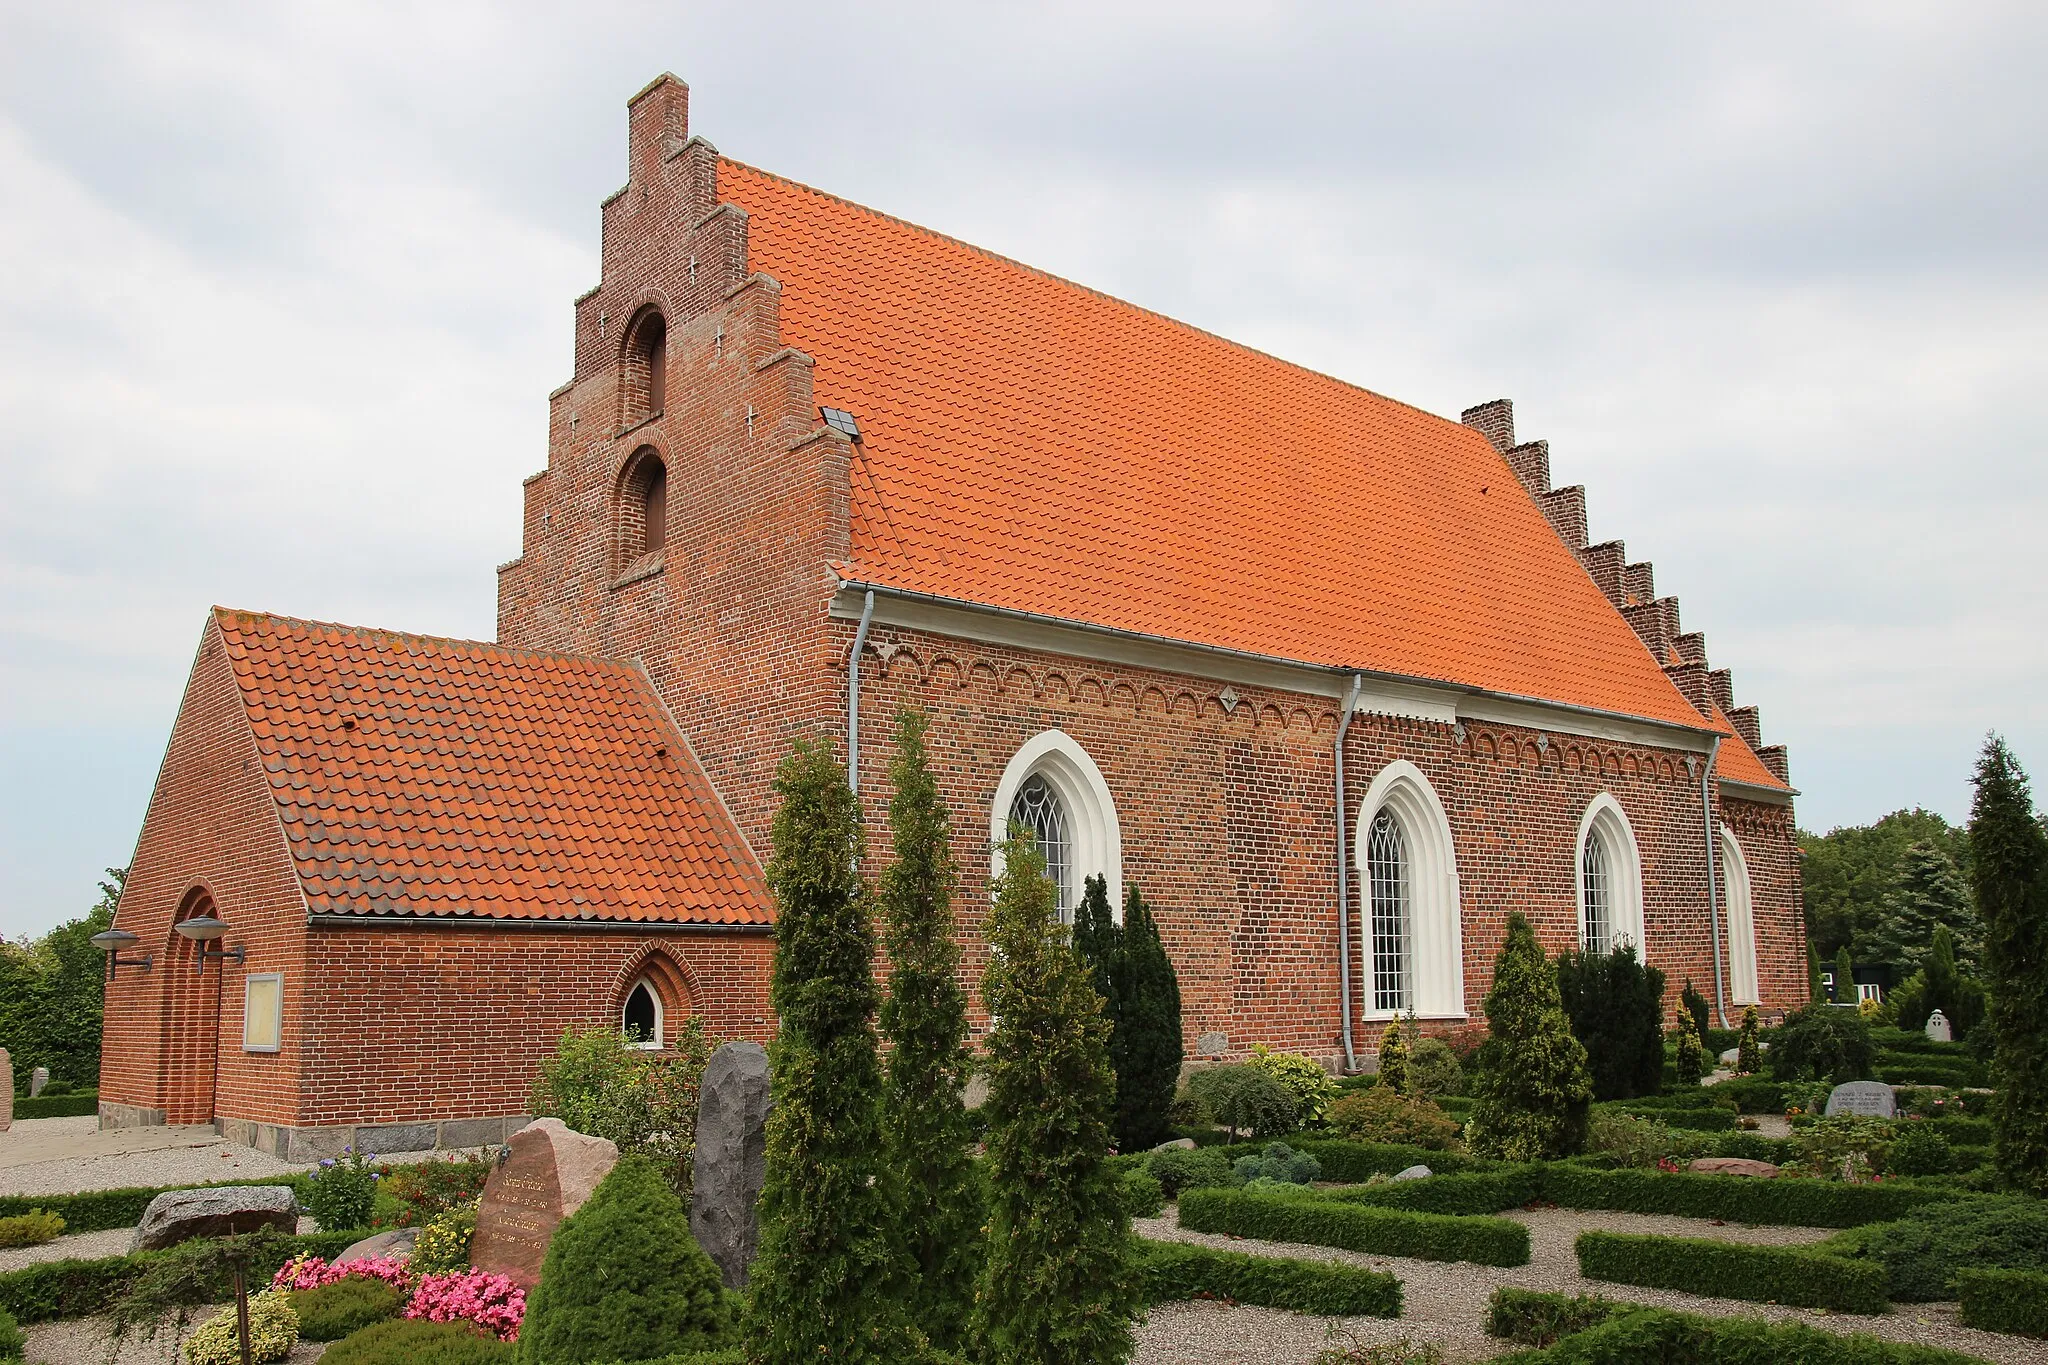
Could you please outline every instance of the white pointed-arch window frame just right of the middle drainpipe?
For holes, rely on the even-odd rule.
[[[1464,923],[1458,900],[1458,849],[1450,819],[1430,778],[1407,759],[1395,759],[1372,778],[1352,827],[1352,868],[1356,872],[1358,927],[1364,945],[1360,974],[1364,1019],[1393,1019],[1395,1011],[1372,1009],[1372,821],[1391,810],[1401,823],[1407,855],[1407,978],[1409,1009],[1417,1019],[1464,1019]]]

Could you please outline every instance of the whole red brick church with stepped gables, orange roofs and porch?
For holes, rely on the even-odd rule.
[[[1505,401],[1438,417],[862,209],[631,100],[498,641],[217,610],[102,1124],[496,1140],[567,1023],[772,1029],[770,780],[932,716],[991,841],[1145,890],[1202,1056],[1479,1019],[1509,911],[1804,999],[1786,755]],[[176,925],[215,937],[190,937]],[[150,966],[137,966],[147,958]]]

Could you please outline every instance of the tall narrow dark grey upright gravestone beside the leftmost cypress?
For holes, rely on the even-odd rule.
[[[768,1052],[725,1044],[711,1054],[696,1099],[690,1236],[743,1289],[760,1244],[756,1201],[768,1175]]]

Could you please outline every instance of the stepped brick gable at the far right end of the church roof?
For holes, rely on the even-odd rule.
[[[1722,782],[1796,794],[1784,745],[1763,743],[1763,722],[1755,706],[1735,704],[1735,679],[1706,659],[1706,634],[1679,630],[1677,598],[1657,596],[1657,575],[1647,563],[1628,563],[1620,540],[1587,544],[1585,485],[1550,487],[1550,442],[1516,442],[1516,407],[1493,399],[1466,407],[1460,422],[1485,436],[1516,479],[1542,510],[1550,530],[1565,542],[1593,579],[1593,587],[1620,612],[1651,657],[1663,665],[1671,686],[1722,731],[1714,772]]]

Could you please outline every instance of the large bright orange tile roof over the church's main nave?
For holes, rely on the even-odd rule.
[[[721,162],[854,581],[1706,729],[1477,432]]]

